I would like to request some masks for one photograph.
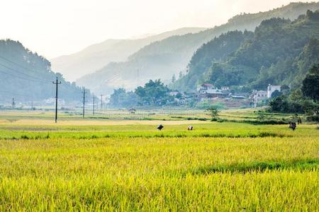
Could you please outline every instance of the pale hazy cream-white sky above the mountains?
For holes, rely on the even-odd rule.
[[[298,0],[300,1],[300,0]],[[0,39],[57,57],[108,38],[213,27],[291,0],[0,0]]]

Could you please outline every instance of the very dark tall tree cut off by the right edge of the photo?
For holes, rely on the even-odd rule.
[[[308,71],[301,90],[304,96],[314,101],[319,100],[319,64]]]

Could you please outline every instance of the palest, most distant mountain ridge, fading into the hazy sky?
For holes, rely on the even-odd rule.
[[[86,47],[80,52],[51,59],[52,70],[60,71],[65,78],[75,81],[77,78],[101,69],[109,62],[125,61],[128,57],[151,42],[163,40],[172,35],[198,33],[206,28],[181,28],[159,35],[141,36],[128,40],[106,40]]]

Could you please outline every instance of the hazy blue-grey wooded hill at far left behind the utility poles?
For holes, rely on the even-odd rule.
[[[0,40],[0,103],[32,102],[55,97],[52,81],[58,78],[59,98],[81,101],[82,90],[51,70],[50,61],[23,47],[20,42]]]

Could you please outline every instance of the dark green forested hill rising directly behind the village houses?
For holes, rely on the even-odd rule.
[[[173,87],[195,90],[203,82],[247,90],[265,89],[269,83],[296,87],[310,66],[319,63],[318,39],[319,11],[293,21],[264,20],[253,35],[231,32],[203,45]]]

